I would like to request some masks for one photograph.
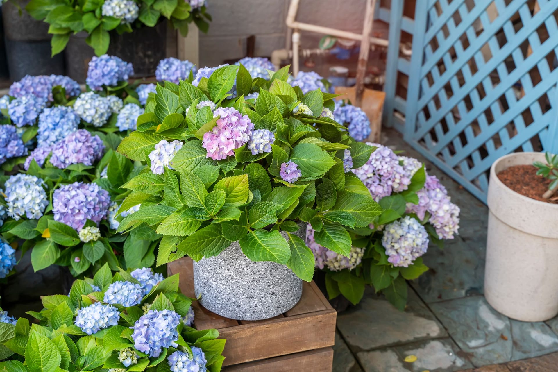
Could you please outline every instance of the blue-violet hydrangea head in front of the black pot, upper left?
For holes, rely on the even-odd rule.
[[[123,4],[127,1],[108,0],[103,4],[103,9],[105,5],[109,4],[108,6],[110,6],[110,4],[114,2]],[[134,3],[133,1],[130,2],[133,3],[134,6],[136,5],[136,3]],[[131,63],[123,61],[116,56],[103,54],[100,57],[93,56],[91,61],[89,61],[89,69],[87,71],[87,78],[85,79],[85,83],[87,83],[87,85],[89,85],[89,88],[93,90],[102,90],[103,85],[118,85],[118,81],[126,81],[128,80],[129,76],[133,74],[134,69]]]

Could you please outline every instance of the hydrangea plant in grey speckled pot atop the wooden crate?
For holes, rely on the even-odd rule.
[[[348,256],[347,229],[382,211],[368,192],[352,192],[365,186],[344,171],[373,147],[320,117],[335,95],[304,94],[287,78],[288,66],[267,81],[241,64],[157,85],[118,147],[149,166],[123,185],[131,194],[121,208],[141,206],[118,231],[162,234],[157,265],[193,258],[201,305],[229,318],[269,318],[296,304],[301,279],[314,273],[306,221],[320,244]],[[256,92],[255,103],[244,98]]]

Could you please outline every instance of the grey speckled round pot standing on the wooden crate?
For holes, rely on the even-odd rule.
[[[306,225],[295,234],[304,239]],[[194,289],[209,311],[236,320],[262,320],[294,307],[302,295],[302,280],[285,265],[252,262],[234,241],[216,257],[194,262]]]

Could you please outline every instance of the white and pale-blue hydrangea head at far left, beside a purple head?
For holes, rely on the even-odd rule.
[[[40,219],[49,200],[42,188],[44,181],[36,176],[18,173],[6,181],[8,216],[18,221],[25,215],[28,219]]]

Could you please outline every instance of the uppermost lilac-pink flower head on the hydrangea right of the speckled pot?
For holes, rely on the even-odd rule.
[[[354,169],[353,172],[368,187],[374,200],[389,196],[393,191],[406,190],[411,179],[405,175],[397,155],[389,147],[381,144],[367,144],[376,146],[377,149],[362,167]]]

